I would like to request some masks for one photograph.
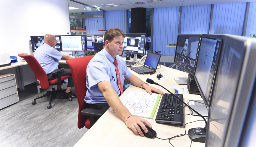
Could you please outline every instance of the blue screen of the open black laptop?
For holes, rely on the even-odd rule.
[[[160,60],[161,54],[148,52],[144,66],[156,69]]]

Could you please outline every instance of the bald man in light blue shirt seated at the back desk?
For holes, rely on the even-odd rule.
[[[44,69],[44,71],[47,74],[48,80],[53,80],[57,78],[57,74],[52,74],[53,71],[58,69],[59,60],[68,60],[73,59],[73,57],[68,55],[63,55],[59,51],[57,51],[55,48],[55,45],[57,43],[57,40],[54,35],[46,34],[44,36],[44,44],[41,45],[37,50],[34,52],[34,57],[37,59],[41,67]],[[71,95],[72,98],[76,97],[75,94],[71,92],[71,88],[74,87],[73,78],[71,75],[70,69],[64,69],[60,72],[60,76],[64,75],[70,75],[71,77],[68,79],[68,86],[66,89],[66,93]],[[61,90],[61,85],[57,85],[57,90]],[[64,92],[64,91],[63,91]]]

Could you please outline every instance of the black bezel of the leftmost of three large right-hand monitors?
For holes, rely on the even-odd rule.
[[[178,44],[178,41],[179,41],[179,37],[180,36],[191,36],[191,37],[199,37],[199,42],[198,42],[198,47],[197,47],[197,53],[196,53],[196,59],[195,59],[195,67],[194,67],[194,71],[193,72],[190,72],[189,70],[187,70],[186,68],[184,68],[183,66],[179,65],[178,63],[175,62],[175,59],[176,59],[176,50],[177,50],[177,44]],[[177,43],[176,43],[176,48],[175,48],[175,54],[174,54],[174,60],[173,60],[173,63],[180,67],[181,69],[183,69],[185,72],[187,72],[188,74],[194,76],[194,73],[195,73],[195,69],[196,69],[196,64],[197,64],[197,56],[198,56],[198,50],[199,50],[199,47],[200,47],[200,44],[201,44],[201,34],[178,34],[177,36]]]

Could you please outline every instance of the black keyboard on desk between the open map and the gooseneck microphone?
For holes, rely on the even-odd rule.
[[[183,101],[182,94],[174,94]],[[157,123],[183,124],[183,103],[170,93],[163,94],[156,116]]]

